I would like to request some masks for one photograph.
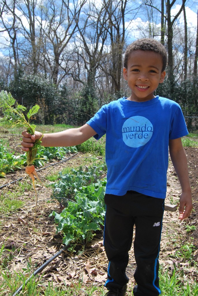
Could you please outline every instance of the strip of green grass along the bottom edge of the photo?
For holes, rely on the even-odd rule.
[[[0,292],[1,296],[12,294],[24,283],[26,276],[24,274],[11,273],[8,270],[1,272]],[[42,274],[32,277],[27,286],[23,287],[22,292],[19,295],[23,296],[102,296],[107,291],[103,287],[89,284],[84,285],[83,279],[78,283],[71,283],[68,287],[66,283],[63,283],[59,287],[54,287],[54,282],[44,282]],[[161,296],[197,296],[198,295],[198,283],[191,282],[189,278],[183,277],[182,272],[174,269],[169,271],[161,269],[160,272],[160,287]],[[133,287],[128,286],[127,296],[132,295]],[[7,292],[7,294],[6,294]],[[12,295],[11,294],[11,295]]]

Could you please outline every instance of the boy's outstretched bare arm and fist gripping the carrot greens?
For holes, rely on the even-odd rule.
[[[96,135],[96,132],[93,128],[85,124],[80,128],[70,128],[58,133],[45,133],[41,141],[44,147],[69,147],[79,145],[94,135]],[[30,147],[33,147],[35,140],[41,138],[42,133],[35,132],[31,136],[26,131],[23,131],[22,136],[21,149],[26,152]]]

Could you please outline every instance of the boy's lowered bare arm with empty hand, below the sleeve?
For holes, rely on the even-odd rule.
[[[182,194],[180,196],[179,219],[183,220],[189,217],[193,205],[187,157],[181,138],[169,140],[169,153],[181,184]]]

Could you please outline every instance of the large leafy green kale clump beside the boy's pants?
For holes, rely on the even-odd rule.
[[[53,197],[65,208],[62,213],[53,211],[50,216],[54,216],[58,224],[57,232],[63,232],[64,244],[86,243],[103,225],[106,180],[99,180],[100,174],[104,173],[102,169],[102,166],[86,171],[81,167],[72,169],[73,174],[60,173],[60,180],[54,184]]]

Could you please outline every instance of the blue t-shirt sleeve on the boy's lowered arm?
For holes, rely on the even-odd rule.
[[[181,111],[181,107],[178,105],[178,108],[171,122],[169,139],[174,140],[186,135],[188,135],[188,130],[186,127],[184,115]]]

